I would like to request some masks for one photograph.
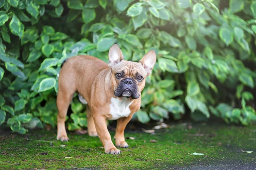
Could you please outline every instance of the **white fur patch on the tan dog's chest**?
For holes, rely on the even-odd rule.
[[[134,102],[134,100],[130,101],[130,99],[122,98],[119,100],[118,98],[111,98],[110,104],[110,114],[112,118],[110,120],[116,120],[120,117],[127,117],[131,113],[129,106]]]

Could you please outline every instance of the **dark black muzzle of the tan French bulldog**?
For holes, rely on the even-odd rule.
[[[115,96],[138,99],[140,97],[140,93],[138,92],[138,86],[134,79],[125,78],[120,81],[115,90]]]

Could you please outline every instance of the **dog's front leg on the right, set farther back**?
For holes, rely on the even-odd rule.
[[[116,134],[114,138],[116,139],[116,147],[128,147],[128,144],[125,142],[125,127],[130,122],[132,118],[131,116],[128,117],[121,117],[117,120],[116,125]]]

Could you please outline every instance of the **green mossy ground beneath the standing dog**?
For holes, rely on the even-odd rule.
[[[55,130],[2,134],[0,169],[255,169],[256,125],[170,125],[153,135],[127,130],[125,136],[135,140],[127,139],[129,148],[120,155],[105,154],[99,138],[87,134],[68,132],[69,142],[57,141]],[[194,152],[204,156],[189,155]]]

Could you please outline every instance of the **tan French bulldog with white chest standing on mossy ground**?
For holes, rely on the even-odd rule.
[[[118,45],[111,46],[108,64],[89,55],[66,59],[58,78],[57,139],[68,141],[65,129],[67,110],[74,93],[87,104],[89,136],[99,136],[105,153],[119,154],[116,147],[128,147],[124,130],[133,114],[140,109],[145,79],[151,74],[156,54],[149,51],[140,62],[125,61]],[[115,144],[107,128],[107,119],[116,120]]]

